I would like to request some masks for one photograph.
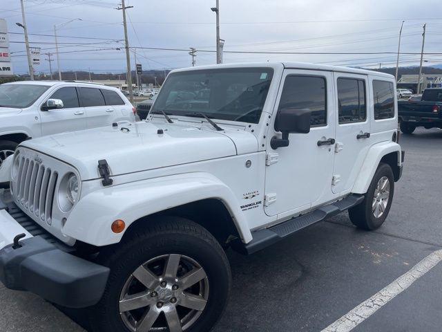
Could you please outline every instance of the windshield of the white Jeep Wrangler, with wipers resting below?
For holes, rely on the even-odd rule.
[[[258,123],[273,69],[229,68],[172,73],[151,112]]]

